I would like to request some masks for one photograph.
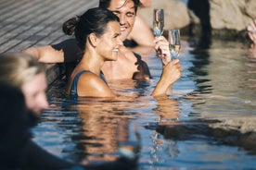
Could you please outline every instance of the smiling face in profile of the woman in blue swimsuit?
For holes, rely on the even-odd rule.
[[[122,45],[120,39],[121,30],[119,22],[110,21],[105,30],[105,33],[98,39],[97,48],[99,55],[101,55],[105,61],[115,61],[117,60],[119,47]]]

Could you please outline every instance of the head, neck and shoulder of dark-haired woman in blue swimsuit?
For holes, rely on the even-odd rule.
[[[108,9],[92,8],[68,23],[73,24],[69,28],[85,52],[70,76],[67,92],[72,96],[113,97],[101,67],[105,61],[117,60],[122,45],[119,18]]]

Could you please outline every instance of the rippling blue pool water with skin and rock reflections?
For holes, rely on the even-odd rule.
[[[58,80],[48,92],[51,107],[33,129],[34,140],[74,161],[109,161],[120,154],[120,141],[134,141],[135,124],[140,169],[254,168],[254,53],[239,42],[184,40],[183,75],[172,95],[149,95],[160,77],[156,57],[147,59],[150,81],[109,82],[118,93],[113,101],[72,101]]]

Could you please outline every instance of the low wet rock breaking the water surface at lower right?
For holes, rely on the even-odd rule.
[[[214,140],[216,144],[237,146],[256,154],[255,120],[192,120],[180,124],[159,126],[157,132],[172,140]]]

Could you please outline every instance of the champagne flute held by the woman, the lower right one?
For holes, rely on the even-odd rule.
[[[172,60],[176,59],[181,49],[180,30],[169,30],[168,41]]]

